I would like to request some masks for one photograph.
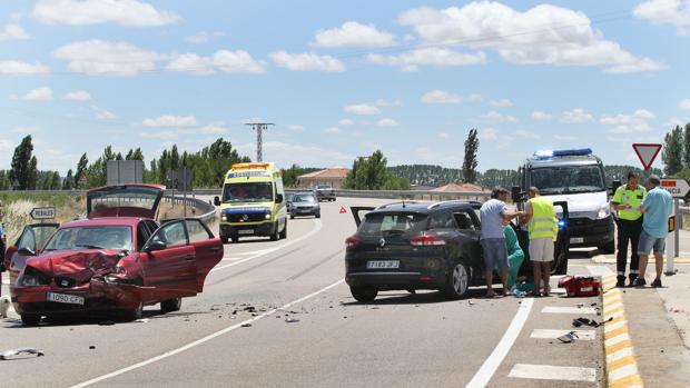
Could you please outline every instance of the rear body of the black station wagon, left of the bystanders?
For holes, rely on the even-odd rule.
[[[358,301],[379,290],[467,294],[484,271],[479,202],[391,203],[352,208],[358,228],[345,241],[345,280]],[[359,212],[368,211],[364,218]]]

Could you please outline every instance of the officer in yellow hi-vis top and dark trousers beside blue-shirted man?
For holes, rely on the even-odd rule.
[[[628,275],[632,286],[634,279],[640,275],[640,256],[638,255],[638,243],[642,232],[642,200],[647,197],[647,190],[639,185],[640,178],[637,173],[628,172],[628,181],[619,187],[613,195],[611,205],[618,211],[618,256],[615,267],[618,271],[618,287],[625,287],[625,267],[628,266],[628,245],[632,246],[630,255],[630,273]]]

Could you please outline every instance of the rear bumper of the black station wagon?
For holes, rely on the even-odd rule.
[[[381,290],[435,289],[445,285],[443,272],[353,271],[345,276],[349,287],[376,287]]]

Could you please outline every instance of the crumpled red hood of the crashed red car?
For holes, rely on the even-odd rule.
[[[114,249],[56,251],[31,258],[27,260],[27,266],[46,275],[68,276],[79,282],[85,282],[93,276],[114,272],[122,257],[120,251]]]

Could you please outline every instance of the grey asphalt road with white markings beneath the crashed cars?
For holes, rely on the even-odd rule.
[[[474,289],[460,301],[382,292],[356,304],[343,282],[344,240],[355,226],[338,209],[367,202],[376,201],[322,203],[321,220],[289,221],[287,240],[226,245],[204,294],[177,314],[152,306],[144,322],[111,326],[0,320],[0,350],[46,352],[0,361],[2,385],[602,386],[601,329],[568,345],[552,331],[570,330],[573,318],[600,319],[595,298],[482,299],[485,290]],[[571,271],[590,273],[591,260],[581,255]]]

